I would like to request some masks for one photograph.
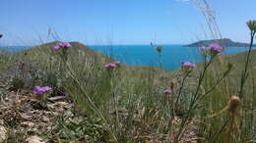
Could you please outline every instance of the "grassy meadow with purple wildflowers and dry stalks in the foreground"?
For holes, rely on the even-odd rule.
[[[198,47],[201,63],[175,71],[162,69],[155,43],[158,67],[59,39],[0,52],[0,142],[256,142],[256,21],[245,23],[248,51],[225,55],[211,43]]]

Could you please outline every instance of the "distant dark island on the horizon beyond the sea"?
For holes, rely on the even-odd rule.
[[[201,40],[192,44],[184,45],[184,47],[203,47],[203,46],[208,46],[211,43],[218,43],[223,47],[249,47],[250,46],[250,44],[248,43],[233,42],[228,38],[223,38],[223,39]],[[256,47],[256,45],[253,45],[253,47]]]

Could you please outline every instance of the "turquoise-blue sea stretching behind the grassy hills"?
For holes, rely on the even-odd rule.
[[[183,45],[158,45],[161,52],[151,45],[90,45],[93,50],[107,57],[131,66],[160,67],[165,70],[176,70],[182,62],[200,63],[203,58],[198,47]],[[20,52],[29,46],[0,47],[8,53]],[[256,49],[256,47],[253,47]],[[226,47],[224,54],[235,54],[248,51],[248,47]]]

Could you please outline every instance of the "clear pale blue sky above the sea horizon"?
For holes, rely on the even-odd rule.
[[[247,42],[245,22],[256,20],[256,1],[208,2],[223,36]],[[0,45],[51,41],[49,28],[59,40],[85,44],[185,44],[207,31],[193,0],[1,0],[0,10]]]

